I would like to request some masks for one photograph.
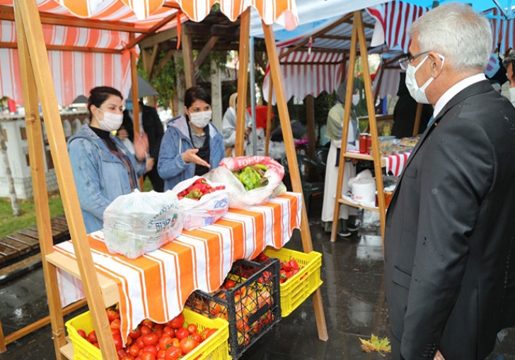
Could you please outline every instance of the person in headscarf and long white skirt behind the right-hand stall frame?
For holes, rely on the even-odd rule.
[[[347,91],[347,81],[338,86],[336,91],[337,103],[329,111],[328,125],[325,129],[325,137],[331,140],[329,147],[327,167],[325,168],[325,186],[324,198],[322,205],[322,226],[326,232],[331,231],[332,217],[335,213],[335,198],[336,186],[338,179],[338,167],[340,162],[340,147],[342,145],[342,130],[343,130],[343,116],[345,109],[343,107],[345,102],[345,92]],[[352,111],[350,113],[349,130],[347,133],[347,150],[357,149],[356,139],[359,135],[358,118],[354,112],[354,106],[359,102],[359,94],[357,93],[357,81],[354,81],[354,94],[352,95]],[[356,165],[352,161],[345,162],[345,172],[343,176],[342,195],[346,194],[349,190],[349,179],[356,176]],[[341,195],[340,195],[341,197]],[[351,235],[352,231],[356,231],[357,227],[354,225],[357,209],[347,205],[340,206],[340,220],[341,224],[338,225],[338,235],[347,237]],[[349,221],[349,216],[351,220]]]

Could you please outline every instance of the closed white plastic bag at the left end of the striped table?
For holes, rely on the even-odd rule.
[[[118,196],[104,211],[104,239],[110,252],[136,259],[159,249],[183,231],[173,191]]]

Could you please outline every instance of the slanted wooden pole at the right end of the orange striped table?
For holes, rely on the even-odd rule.
[[[247,10],[248,11],[248,10]],[[275,98],[277,99],[277,109],[279,111],[279,120],[281,121],[282,135],[284,138],[284,146],[288,159],[288,167],[291,176],[291,186],[297,193],[302,193],[301,176],[299,173],[299,164],[295,153],[295,145],[293,133],[291,132],[291,121],[288,113],[286,96],[284,95],[284,85],[282,84],[282,74],[279,66],[279,57],[277,57],[277,47],[275,47],[274,30],[271,25],[267,25],[262,21],[263,33],[265,33],[265,43],[270,63],[270,78],[273,79],[276,86]],[[248,40],[248,39],[247,39]],[[301,213],[301,238],[304,252],[313,250],[311,242],[311,232],[309,230],[308,213],[306,212],[306,203],[302,197],[302,213]],[[318,338],[323,341],[328,340],[328,328],[325,325],[325,315],[322,303],[322,294],[320,288],[313,293],[313,308],[315,310],[316,327],[318,329]]]

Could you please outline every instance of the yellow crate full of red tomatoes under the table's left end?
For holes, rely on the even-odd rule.
[[[114,307],[106,311],[118,359],[230,359],[225,320],[208,319],[187,309],[166,324],[146,319],[129,333],[124,347],[120,314]],[[74,345],[74,360],[103,359],[89,311],[66,322],[66,330]]]

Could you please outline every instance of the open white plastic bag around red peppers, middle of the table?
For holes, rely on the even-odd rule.
[[[197,181],[202,179],[202,176],[194,176],[191,179],[181,181],[175,185],[172,191],[180,193],[187,189]],[[206,178],[203,178],[206,179]],[[224,184],[217,184],[207,180],[207,184],[211,187],[216,187]],[[181,215],[183,215],[183,227],[185,230],[193,230],[197,227],[202,227],[214,223],[227,213],[229,209],[228,193],[226,189],[216,190],[212,193],[206,193],[195,200],[192,198],[181,198],[179,200],[179,207]]]

